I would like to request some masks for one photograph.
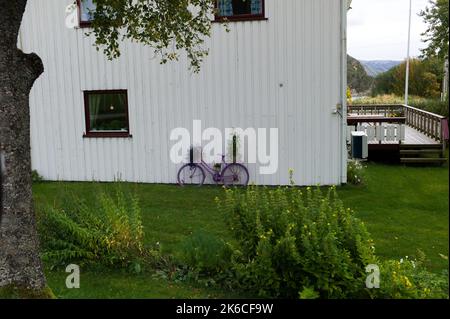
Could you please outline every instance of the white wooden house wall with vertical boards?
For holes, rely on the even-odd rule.
[[[175,183],[170,132],[201,120],[278,128],[278,170],[248,164],[252,182],[287,184],[289,169],[299,185],[346,182],[347,0],[219,0],[230,32],[214,23],[199,74],[135,43],[108,61],[86,35],[87,11],[66,27],[72,2],[29,0],[18,39],[45,66],[30,104],[32,165],[46,179]],[[98,99],[121,116],[92,121]]]

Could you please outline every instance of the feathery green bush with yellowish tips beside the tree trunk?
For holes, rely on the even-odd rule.
[[[38,213],[43,259],[52,265],[102,264],[133,267],[146,254],[139,203],[117,190],[115,196],[100,193],[96,203],[72,195],[62,207],[46,207]]]

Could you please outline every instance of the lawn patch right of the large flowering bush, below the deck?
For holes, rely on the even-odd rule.
[[[375,240],[377,254],[400,259],[422,250],[429,270],[448,268],[448,168],[369,164],[367,186],[339,195]]]

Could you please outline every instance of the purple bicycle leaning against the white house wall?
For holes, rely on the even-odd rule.
[[[199,164],[190,163],[178,171],[178,184],[202,186],[206,179],[205,172],[209,173],[214,182],[225,186],[247,186],[249,174],[247,168],[239,163],[226,163],[222,155],[222,163],[214,167],[201,160]]]

